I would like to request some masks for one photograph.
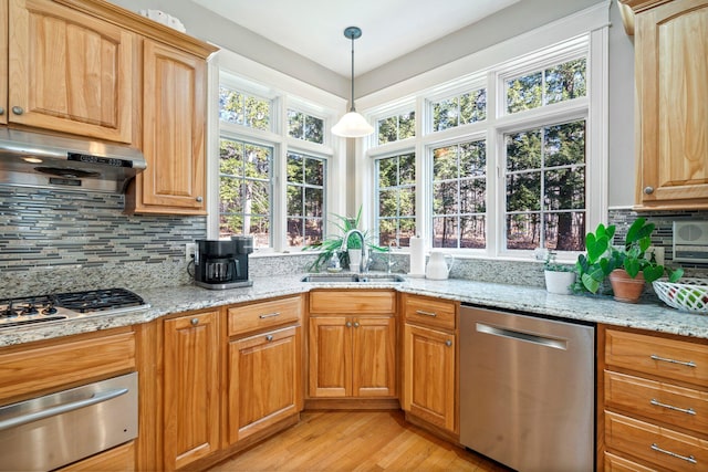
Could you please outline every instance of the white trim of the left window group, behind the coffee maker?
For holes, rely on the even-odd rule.
[[[221,49],[209,61],[208,70],[208,130],[207,130],[207,238],[219,238],[219,80],[225,71],[235,77],[227,83],[243,87],[246,92],[257,96],[274,98],[272,130],[263,132],[246,126],[227,126],[228,134],[240,140],[273,146],[272,178],[274,192],[272,196],[272,244],[271,249],[260,249],[258,254],[271,252],[290,252],[293,248],[287,244],[285,228],[285,172],[288,150],[323,157],[327,159],[327,201],[325,211],[344,213],[345,192],[337,191],[341,182],[346,181],[346,143],[337,139],[329,132],[336,118],[347,111],[347,101],[329,92],[316,88],[302,81],[267,67],[237,53]],[[315,144],[295,139],[287,135],[288,107],[302,109],[324,119],[324,144]],[[325,214],[325,220],[330,220]],[[333,231],[327,227],[325,234]],[[258,255],[254,253],[253,255]]]

